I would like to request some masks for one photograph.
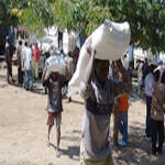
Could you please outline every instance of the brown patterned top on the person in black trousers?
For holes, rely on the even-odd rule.
[[[164,121],[165,112],[165,85],[156,82],[152,90],[152,110],[151,118]]]

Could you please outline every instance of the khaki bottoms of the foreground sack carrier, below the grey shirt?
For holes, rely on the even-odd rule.
[[[100,158],[100,160],[86,158],[85,147],[84,147],[82,140],[81,140],[81,143],[80,143],[80,165],[113,165],[111,151],[110,151],[110,154],[105,158]]]

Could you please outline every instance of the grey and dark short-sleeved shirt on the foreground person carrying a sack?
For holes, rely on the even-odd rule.
[[[82,143],[86,158],[103,158],[109,155],[110,116],[114,97],[123,90],[123,82],[108,79],[101,86],[95,74],[86,86],[80,85],[80,95],[85,98],[82,117]]]

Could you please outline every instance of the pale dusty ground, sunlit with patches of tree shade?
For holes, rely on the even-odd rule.
[[[35,84],[34,92],[9,86],[6,82],[6,70],[0,68],[0,165],[78,165],[84,106],[78,96],[74,100],[72,103],[64,100],[63,154],[56,158],[54,147],[45,145],[46,95],[42,86]],[[165,165],[165,150],[161,156],[150,154],[144,128],[145,105],[143,100],[136,99],[129,109],[128,146],[112,146],[117,165]],[[52,133],[53,143],[54,139],[55,131]]]

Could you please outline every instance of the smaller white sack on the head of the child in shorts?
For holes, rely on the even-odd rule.
[[[47,70],[45,77],[47,78],[51,73],[57,72],[59,74],[65,74],[65,62],[61,56],[53,55],[46,59]]]

